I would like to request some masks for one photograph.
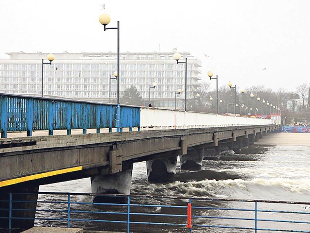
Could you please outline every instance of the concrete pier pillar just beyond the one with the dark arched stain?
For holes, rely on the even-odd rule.
[[[203,148],[187,148],[187,154],[180,155],[181,169],[200,171],[202,169]]]

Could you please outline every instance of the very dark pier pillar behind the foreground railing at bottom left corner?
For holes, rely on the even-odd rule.
[[[35,209],[37,207],[38,191],[39,185],[27,186],[25,184],[23,186],[16,185],[14,187],[0,189],[0,209],[5,209],[0,211],[0,216],[9,217],[9,208],[11,205],[12,209],[17,209],[12,211],[12,217],[28,218],[12,219],[11,227],[15,229],[32,228],[34,225]],[[18,192],[18,194],[15,194],[15,192]],[[28,192],[31,192],[31,194],[27,194]],[[10,195],[10,193],[13,194]],[[1,219],[0,228],[9,228],[9,219]]]

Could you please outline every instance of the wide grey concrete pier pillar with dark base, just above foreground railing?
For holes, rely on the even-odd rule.
[[[130,194],[132,164],[128,169],[91,178],[92,192],[96,194]],[[93,202],[124,203],[126,198],[95,196]]]

